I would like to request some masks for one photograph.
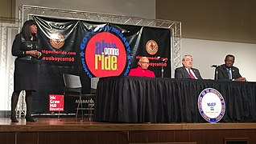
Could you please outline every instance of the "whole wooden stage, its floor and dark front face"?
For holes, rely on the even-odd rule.
[[[36,117],[35,117],[36,118]],[[256,143],[256,123],[109,123],[37,117],[0,118],[0,144]]]

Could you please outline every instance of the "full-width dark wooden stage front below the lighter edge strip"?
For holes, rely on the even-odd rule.
[[[15,137],[16,134],[16,137]],[[152,130],[152,131],[55,131],[2,132],[0,143],[8,144],[109,144],[109,143],[256,143],[256,130]]]

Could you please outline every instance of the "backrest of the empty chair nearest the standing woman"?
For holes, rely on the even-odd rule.
[[[80,76],[74,74],[63,74],[65,90],[64,94],[67,93],[79,93],[81,94],[81,80]]]

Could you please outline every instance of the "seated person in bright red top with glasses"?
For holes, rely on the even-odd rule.
[[[155,78],[155,74],[151,70],[147,70],[149,66],[149,60],[147,57],[139,58],[138,67],[131,69],[129,75],[134,77],[151,77]]]

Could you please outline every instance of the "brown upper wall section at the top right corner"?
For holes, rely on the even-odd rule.
[[[156,0],[156,18],[182,23],[183,38],[256,43],[255,1]]]

